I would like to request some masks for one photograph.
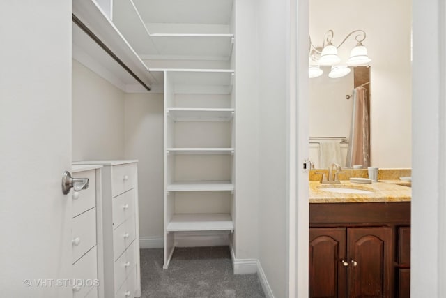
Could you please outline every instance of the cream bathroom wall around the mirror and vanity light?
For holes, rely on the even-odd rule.
[[[328,29],[334,31],[334,45],[355,29],[366,31],[364,45],[371,58],[371,162],[378,167],[411,167],[411,1],[309,4],[309,32],[316,46],[322,45]],[[354,46],[354,38],[348,38],[339,56],[346,61]]]

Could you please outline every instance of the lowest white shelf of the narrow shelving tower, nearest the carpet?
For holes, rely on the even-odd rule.
[[[231,214],[174,214],[168,232],[233,230]]]

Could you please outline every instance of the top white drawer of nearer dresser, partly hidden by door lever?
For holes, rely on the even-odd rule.
[[[71,217],[75,217],[96,205],[96,172],[95,170],[76,172],[72,174],[72,177],[89,179],[89,188],[82,191],[72,190],[70,193],[72,198]]]

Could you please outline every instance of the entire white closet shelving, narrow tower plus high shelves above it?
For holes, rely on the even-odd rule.
[[[148,64],[157,60],[157,67],[164,67],[163,61],[186,65],[169,62],[187,60],[188,68],[149,69],[156,91],[164,94],[164,269],[176,234],[212,237],[214,231],[231,243],[233,19],[233,0],[113,1],[111,20],[139,58]],[[190,68],[195,64],[200,67]]]

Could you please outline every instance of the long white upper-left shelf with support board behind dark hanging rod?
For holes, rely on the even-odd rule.
[[[73,1],[72,13],[107,45],[149,87],[153,77],[121,32],[92,0]],[[72,29],[72,56],[123,91],[138,89],[139,82],[97,45],[76,24]],[[145,90],[141,86],[139,90]]]

